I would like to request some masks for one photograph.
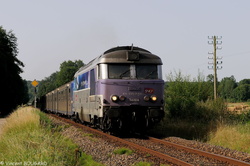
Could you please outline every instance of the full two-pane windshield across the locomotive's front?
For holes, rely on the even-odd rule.
[[[108,64],[109,79],[159,79],[158,66],[152,64]]]

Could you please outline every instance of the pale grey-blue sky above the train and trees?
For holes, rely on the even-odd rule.
[[[163,78],[172,72],[196,78],[213,74],[213,45],[218,80],[249,79],[249,0],[0,0],[0,26],[17,37],[18,59],[26,80],[42,80],[68,60],[85,64],[106,50],[134,45],[162,58]]]

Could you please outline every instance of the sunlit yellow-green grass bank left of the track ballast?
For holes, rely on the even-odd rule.
[[[32,107],[19,108],[6,119],[0,136],[0,162],[101,165],[91,156],[80,156],[78,146],[62,136],[45,114]]]

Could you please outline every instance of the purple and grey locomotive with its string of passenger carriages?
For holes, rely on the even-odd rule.
[[[103,131],[145,131],[164,117],[162,65],[146,49],[111,48],[46,94],[45,110]]]

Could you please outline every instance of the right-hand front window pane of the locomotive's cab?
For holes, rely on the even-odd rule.
[[[136,65],[137,79],[158,79],[157,65]]]

